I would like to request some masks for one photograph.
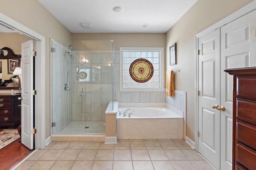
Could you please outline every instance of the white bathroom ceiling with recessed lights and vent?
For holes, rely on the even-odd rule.
[[[166,33],[197,0],[38,1],[72,33]],[[114,12],[114,6],[124,11]],[[92,23],[93,28],[81,23]]]

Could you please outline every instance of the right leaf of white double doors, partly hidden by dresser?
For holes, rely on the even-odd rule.
[[[233,76],[228,68],[256,66],[256,11],[220,28],[220,169],[232,169],[232,96]]]

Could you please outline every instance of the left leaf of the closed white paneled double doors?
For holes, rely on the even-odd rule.
[[[220,29],[199,39],[199,51],[198,152],[220,169]]]

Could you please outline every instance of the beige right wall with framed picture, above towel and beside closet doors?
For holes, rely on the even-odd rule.
[[[176,90],[187,92],[187,136],[195,141],[195,35],[253,0],[198,0],[166,33],[166,70],[180,69]],[[170,66],[168,47],[177,43],[177,65]]]

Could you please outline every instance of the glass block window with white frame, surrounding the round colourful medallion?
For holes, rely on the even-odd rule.
[[[120,47],[120,91],[162,91],[164,48]],[[136,59],[148,60],[154,68],[147,82],[136,82],[130,76],[130,65]]]

